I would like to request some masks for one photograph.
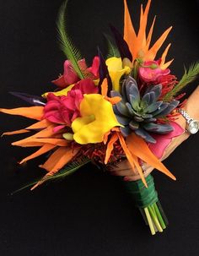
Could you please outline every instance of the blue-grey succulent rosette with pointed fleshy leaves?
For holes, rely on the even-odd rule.
[[[156,143],[151,133],[169,133],[173,131],[169,123],[157,123],[158,118],[166,117],[180,101],[159,101],[162,84],[151,84],[143,95],[137,87],[137,81],[127,77],[121,86],[121,93],[112,90],[111,96],[120,96],[121,101],[113,106],[116,118],[123,125],[121,133],[127,137],[132,132],[148,143]]]

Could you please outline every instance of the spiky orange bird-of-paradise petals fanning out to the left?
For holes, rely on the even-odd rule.
[[[66,139],[62,138],[62,131],[55,133],[53,129],[56,127],[55,124],[42,119],[43,117],[43,106],[30,106],[30,107],[19,107],[14,109],[0,109],[0,112],[19,115],[22,117],[28,117],[31,119],[39,120],[39,122],[30,125],[27,128],[20,129],[18,131],[3,133],[3,135],[13,135],[19,133],[28,133],[30,131],[39,131],[28,138],[20,139],[13,142],[13,145],[21,147],[40,147],[35,153],[25,157],[19,163],[22,164],[24,161],[29,161],[39,155],[43,155],[46,152],[55,149],[55,152],[51,154],[46,163],[40,167],[46,169],[48,175],[53,175],[58,172],[62,166],[65,166],[68,161],[71,161],[73,156],[78,153],[78,149],[73,149],[71,144]],[[40,182],[39,182],[40,183]],[[39,185],[37,183],[36,186]],[[35,187],[36,187],[35,186]]]

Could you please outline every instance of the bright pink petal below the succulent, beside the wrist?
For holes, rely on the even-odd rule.
[[[156,155],[159,159],[162,158],[164,150],[167,148],[171,140],[177,136],[180,136],[185,132],[183,128],[180,127],[178,123],[170,122],[170,125],[174,130],[167,134],[154,134],[153,138],[156,140],[155,144],[149,144],[149,149]]]

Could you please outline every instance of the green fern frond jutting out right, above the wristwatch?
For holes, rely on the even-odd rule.
[[[188,71],[185,68],[185,73],[180,79],[179,83],[175,85],[173,90],[170,90],[164,95],[163,101],[170,101],[177,93],[180,92],[187,84],[193,82],[199,74],[199,62],[192,63]]]

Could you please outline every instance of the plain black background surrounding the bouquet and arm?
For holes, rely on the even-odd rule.
[[[64,56],[56,40],[56,14],[62,1],[0,1],[0,103],[2,107],[26,106],[8,95],[15,90],[40,95],[54,89],[52,79],[62,73]],[[142,1],[128,1],[137,22]],[[143,1],[146,4],[146,1]],[[153,39],[173,25],[170,66],[179,78],[183,65],[199,58],[198,3],[152,1],[149,20],[157,14]],[[96,46],[105,52],[103,32],[112,23],[122,31],[121,0],[68,3],[68,30],[88,63]],[[166,46],[166,45],[164,45]],[[189,93],[196,87],[192,83]],[[3,131],[27,127],[23,117],[1,114]],[[22,136],[23,137],[23,136]],[[32,149],[9,146],[1,139],[0,171],[0,255],[199,255],[199,136],[192,136],[164,161],[177,181],[153,172],[159,198],[169,218],[163,234],[150,236],[132,199],[116,177],[86,166],[62,182],[44,185],[30,192],[11,193],[45,174],[39,167],[44,156],[19,166],[17,161]]]

